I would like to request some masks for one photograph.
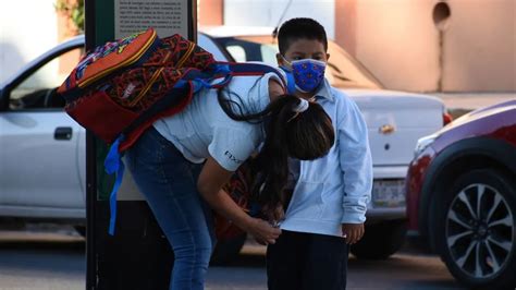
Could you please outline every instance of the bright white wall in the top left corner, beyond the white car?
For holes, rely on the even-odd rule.
[[[0,83],[58,43],[54,0],[2,0]]]

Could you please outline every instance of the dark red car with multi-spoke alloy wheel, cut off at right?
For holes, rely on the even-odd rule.
[[[467,113],[418,141],[409,229],[469,287],[516,287],[516,100]]]

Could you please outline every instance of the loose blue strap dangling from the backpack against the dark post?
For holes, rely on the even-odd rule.
[[[115,181],[111,194],[109,196],[110,218],[109,218],[109,234],[114,234],[114,223],[116,221],[116,192],[122,184],[124,177],[124,164],[122,162],[122,156],[119,153],[120,143],[124,140],[123,135],[120,135],[109,148],[108,156],[103,161],[106,173],[115,173]]]

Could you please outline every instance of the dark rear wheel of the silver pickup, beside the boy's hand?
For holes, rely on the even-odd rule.
[[[402,247],[406,233],[405,220],[367,225],[363,239],[352,245],[351,252],[358,258],[384,259]]]

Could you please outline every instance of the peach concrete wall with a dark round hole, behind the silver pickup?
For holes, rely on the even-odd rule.
[[[337,43],[389,88],[516,90],[514,0],[335,1]],[[451,14],[438,25],[440,2]]]

